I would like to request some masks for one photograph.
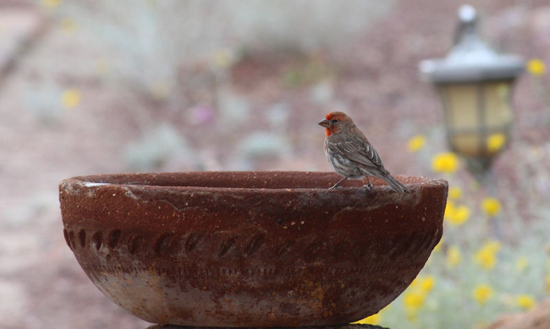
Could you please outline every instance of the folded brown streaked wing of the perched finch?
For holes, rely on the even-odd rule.
[[[369,167],[383,168],[380,155],[378,155],[378,152],[368,140],[351,138],[328,142],[333,150],[336,150],[352,161]]]

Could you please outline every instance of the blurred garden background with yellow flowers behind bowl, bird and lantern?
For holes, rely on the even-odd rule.
[[[62,179],[328,171],[329,111],[351,115],[393,174],[450,183],[443,242],[366,322],[550,328],[550,4],[470,3],[481,36],[527,62],[485,181],[450,152],[417,67],[452,47],[460,1],[0,0],[0,328],[148,326],[65,245]]]

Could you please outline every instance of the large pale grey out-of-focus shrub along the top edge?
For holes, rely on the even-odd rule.
[[[74,0],[46,7],[100,39],[118,76],[153,95],[162,86],[165,95],[186,79],[179,76],[182,67],[223,70],[242,52],[309,52],[352,43],[394,2]]]

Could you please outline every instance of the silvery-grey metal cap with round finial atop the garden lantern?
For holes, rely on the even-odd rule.
[[[455,44],[445,58],[422,60],[419,71],[435,83],[514,79],[523,71],[520,56],[498,54],[479,38],[478,16],[472,5],[461,5]]]

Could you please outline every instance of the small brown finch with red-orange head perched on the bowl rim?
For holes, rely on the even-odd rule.
[[[369,176],[373,176],[384,179],[397,192],[410,191],[384,168],[378,152],[346,113],[329,113],[319,125],[325,127],[327,133],[325,155],[329,164],[337,174],[344,177],[331,188],[336,188],[346,179],[366,177],[365,187],[371,190],[373,185]]]

